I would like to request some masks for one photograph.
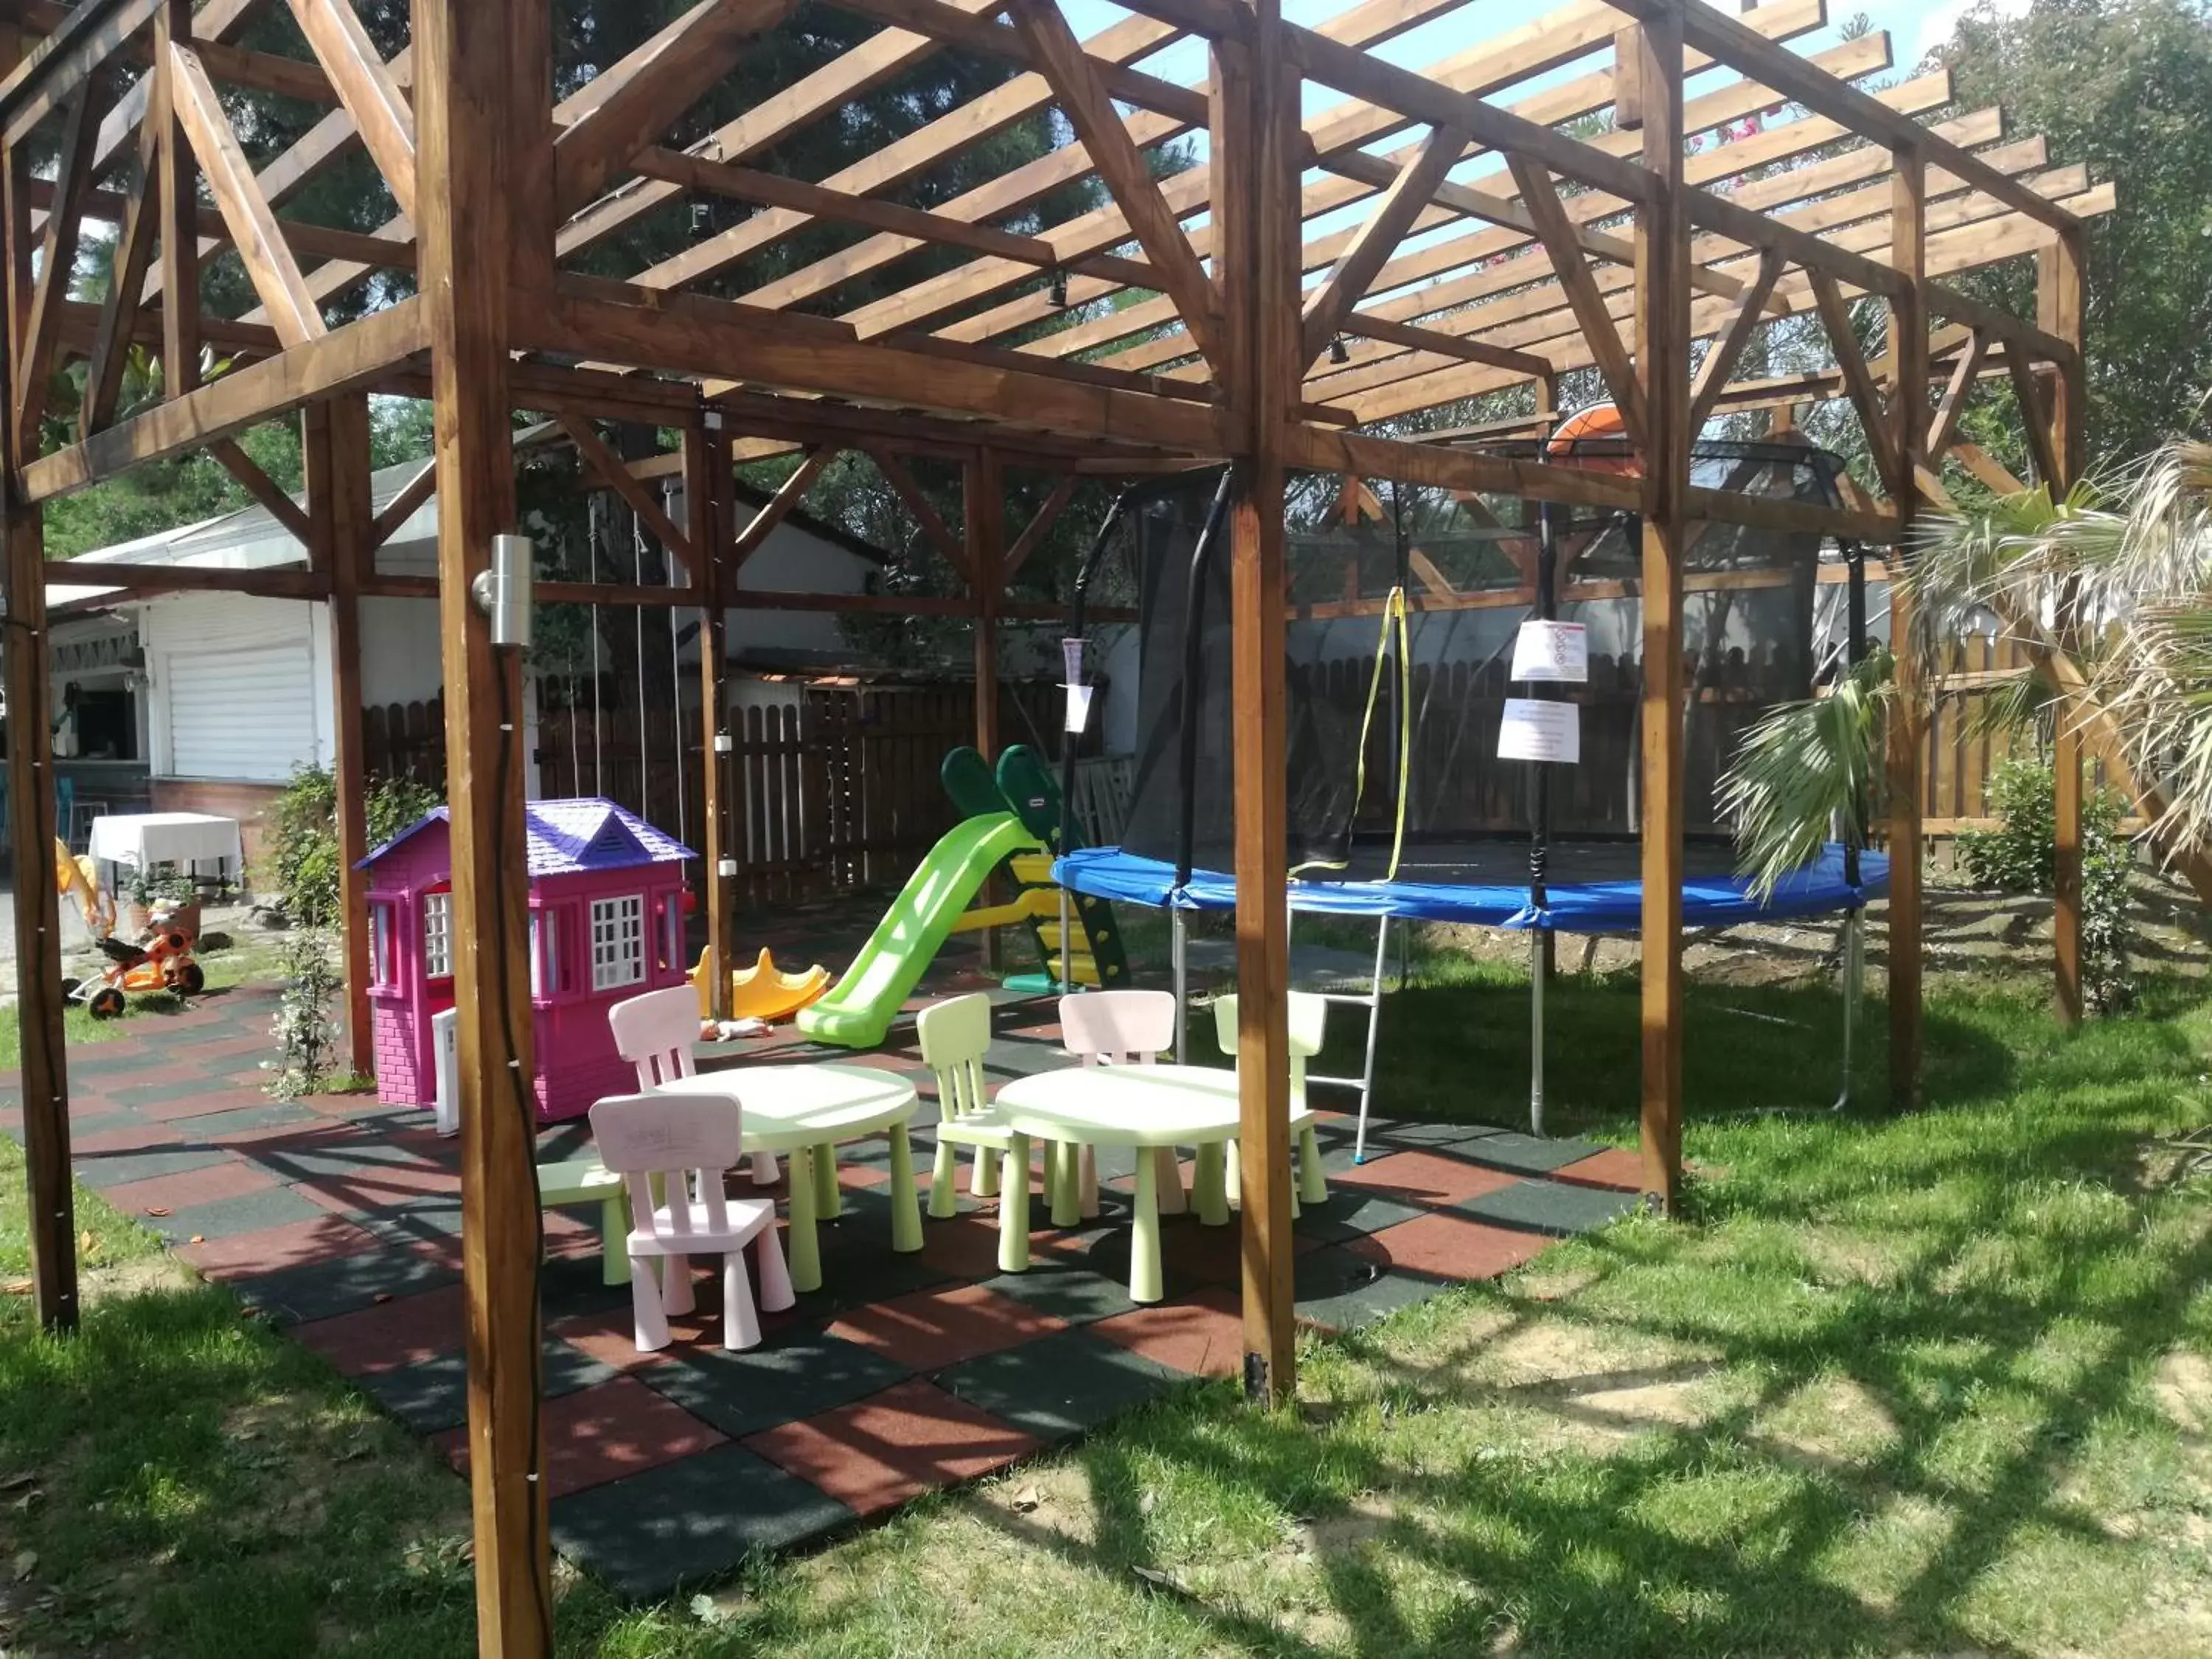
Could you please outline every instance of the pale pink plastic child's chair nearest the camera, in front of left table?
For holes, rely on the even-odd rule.
[[[723,1347],[761,1340],[745,1283],[748,1243],[761,1261],[761,1307],[774,1314],[794,1301],[774,1199],[723,1192],[721,1172],[739,1159],[739,1117],[737,1095],[613,1095],[591,1108],[599,1159],[630,1186],[630,1307],[641,1354],[668,1347],[668,1316],[692,1310],[692,1256],[721,1256]],[[655,1188],[666,1203],[655,1203]],[[664,1263],[659,1285],[655,1256]]]

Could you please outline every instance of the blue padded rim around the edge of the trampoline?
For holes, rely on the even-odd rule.
[[[1635,933],[1644,925],[1644,883],[1632,841],[1557,841],[1548,849],[1546,902],[1528,902],[1528,843],[1478,841],[1407,847],[1391,880],[1321,878],[1290,883],[1290,907],[1307,916],[1407,916],[1422,922],[1478,927],[1544,927],[1557,933]],[[1376,869],[1363,849],[1347,876]],[[1234,909],[1237,880],[1194,869],[1177,885],[1175,865],[1121,847],[1088,847],[1053,863],[1053,876],[1077,894],[1155,909]],[[1681,885],[1683,927],[1728,927],[1787,916],[1825,916],[1882,898],[1889,860],[1858,854],[1858,883],[1843,878],[1843,847],[1829,843],[1816,860],[1790,872],[1765,900],[1734,872],[1725,843],[1690,843]]]

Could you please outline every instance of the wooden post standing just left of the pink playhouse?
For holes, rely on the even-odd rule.
[[[345,1042],[354,1075],[376,1071],[369,1031],[369,774],[361,748],[361,577],[376,557],[369,493],[369,400],[310,403],[303,460],[314,564],[330,580],[330,670],[336,721],[338,953],[345,967]]]

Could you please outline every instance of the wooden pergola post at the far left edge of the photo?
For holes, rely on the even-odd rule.
[[[0,27],[0,71],[27,51],[15,24]],[[15,425],[15,358],[31,312],[27,153],[7,153],[7,316],[0,330],[0,420],[11,469],[38,456],[38,434]],[[77,1327],[77,1203],[69,1175],[69,1062],[62,1029],[62,896],[53,885],[53,695],[46,639],[46,522],[13,487],[0,509],[0,577],[7,582],[7,792],[15,854],[15,1020],[22,1060],[22,1159],[31,1232],[31,1296],[49,1332]]]

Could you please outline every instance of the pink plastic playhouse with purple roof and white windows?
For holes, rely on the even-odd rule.
[[[684,984],[684,860],[697,854],[613,801],[531,801],[531,1006],[538,1117],[582,1117],[635,1086],[606,1011]],[[436,1099],[431,1018],[453,1006],[453,854],[445,807],[361,860],[369,872],[376,1097]]]

